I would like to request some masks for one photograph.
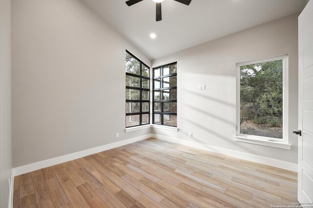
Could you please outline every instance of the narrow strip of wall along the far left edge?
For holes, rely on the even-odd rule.
[[[0,208],[9,202],[11,143],[11,3],[0,0]]]

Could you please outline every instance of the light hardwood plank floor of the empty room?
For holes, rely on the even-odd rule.
[[[146,139],[14,178],[14,208],[269,208],[297,173]]]

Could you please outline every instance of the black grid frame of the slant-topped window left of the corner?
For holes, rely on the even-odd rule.
[[[139,100],[129,100],[126,99],[126,90],[125,90],[125,128],[133,128],[133,127],[139,127],[139,126],[145,126],[145,125],[150,125],[150,94],[151,94],[151,67],[148,66],[147,64],[145,64],[143,61],[141,61],[139,58],[137,58],[136,56],[134,56],[131,52],[129,52],[128,50],[126,50],[126,53],[128,53],[130,56],[134,57],[134,59],[136,59],[137,61],[139,61],[140,63],[140,75],[135,75],[135,74],[131,74],[131,73],[126,73],[125,75],[125,80],[126,80],[126,76],[132,76],[132,77],[138,77],[140,79],[140,87],[131,87],[131,86],[126,86],[125,83],[125,87],[126,90],[130,89],[130,90],[139,90],[140,91],[140,95],[139,95]],[[149,69],[149,77],[148,76],[142,76],[142,65],[146,66]],[[143,88],[142,87],[142,79],[147,79],[148,83],[149,83],[149,88]],[[148,100],[143,100],[142,99],[142,91],[147,91],[149,92],[149,96],[148,96]],[[139,103],[139,113],[126,113],[126,104],[130,102],[130,103]],[[148,103],[148,112],[142,112],[142,103]],[[142,124],[142,115],[144,114],[148,114],[148,123]],[[126,117],[129,115],[139,115],[139,125],[135,125],[135,126],[126,126]]]

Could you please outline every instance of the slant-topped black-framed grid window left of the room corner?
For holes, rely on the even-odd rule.
[[[150,124],[150,67],[126,51],[125,126]]]

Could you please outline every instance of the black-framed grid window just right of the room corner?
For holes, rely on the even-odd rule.
[[[177,127],[177,62],[153,69],[153,123]]]

